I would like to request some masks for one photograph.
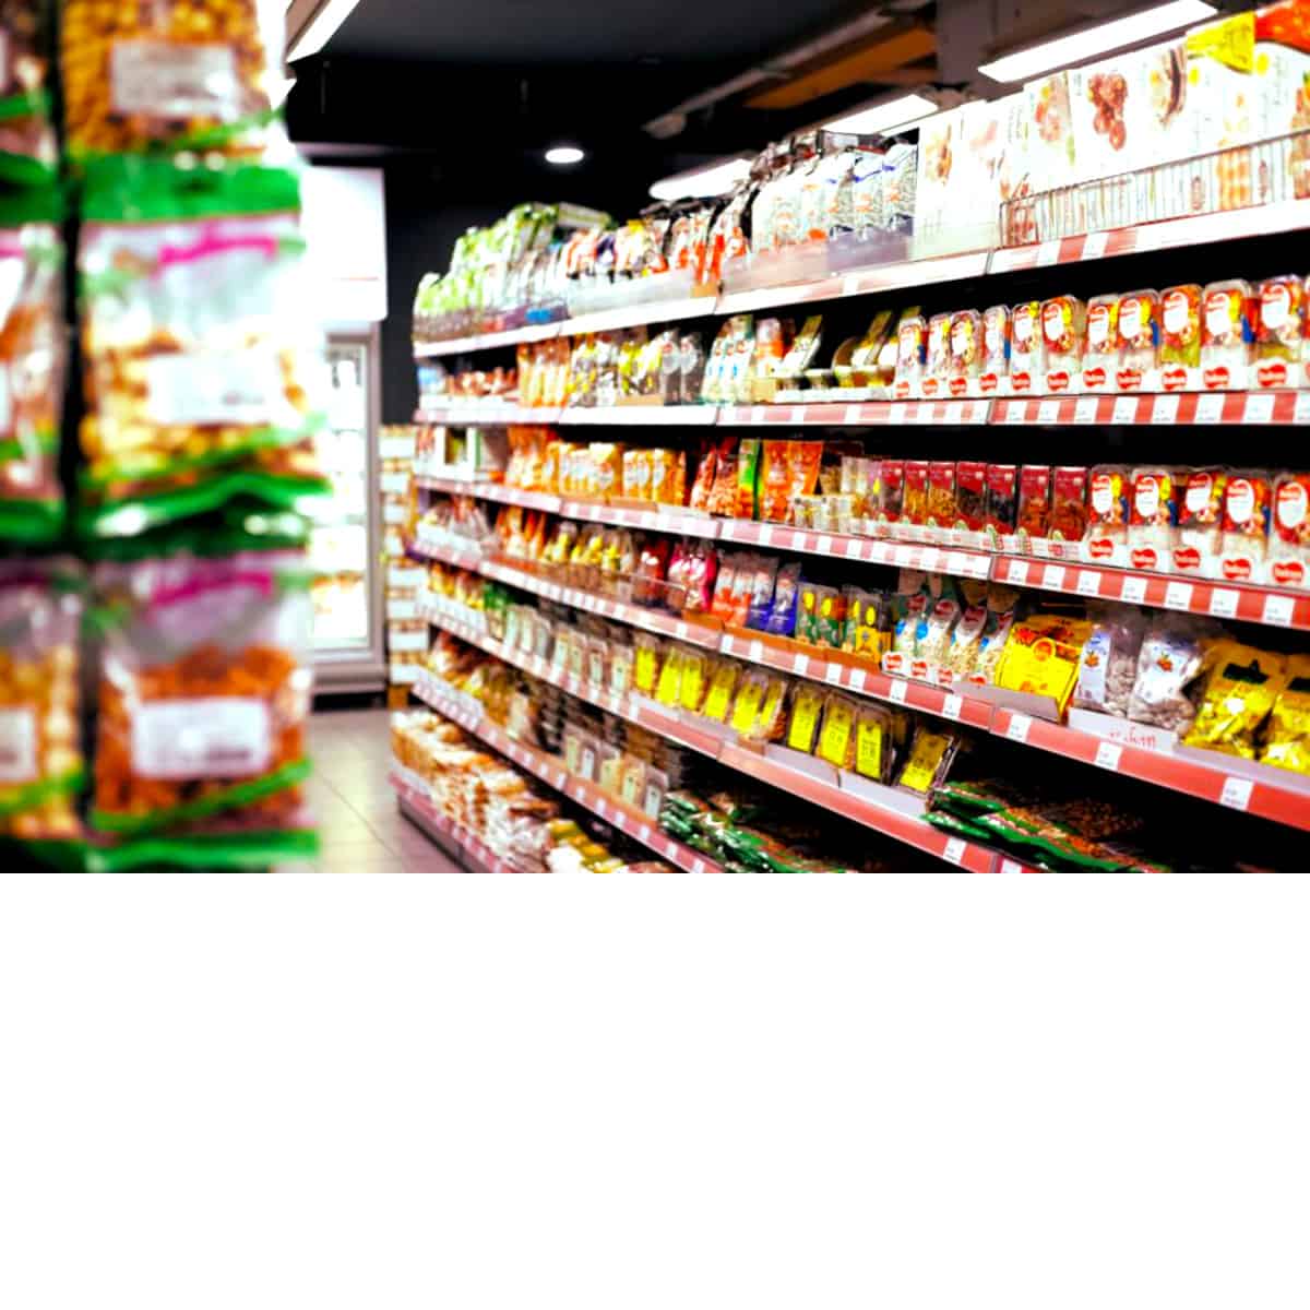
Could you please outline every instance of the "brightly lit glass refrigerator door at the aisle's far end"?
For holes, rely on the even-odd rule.
[[[380,692],[383,647],[381,528],[377,521],[377,329],[328,338],[328,424],[318,439],[333,494],[309,541],[314,572],[314,690]]]

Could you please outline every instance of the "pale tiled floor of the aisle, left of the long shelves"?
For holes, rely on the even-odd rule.
[[[312,866],[318,872],[458,871],[396,807],[386,783],[388,722],[385,710],[314,710],[308,793],[318,819],[321,850]]]

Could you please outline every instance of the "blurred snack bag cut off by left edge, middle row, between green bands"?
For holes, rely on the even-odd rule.
[[[52,540],[63,523],[59,424],[66,335],[52,191],[0,196],[0,537]]]

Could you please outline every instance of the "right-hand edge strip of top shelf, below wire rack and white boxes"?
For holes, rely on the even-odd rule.
[[[993,250],[986,271],[1000,274],[1058,263],[1082,263],[1124,254],[1145,254],[1150,250],[1175,250],[1212,241],[1237,241],[1242,237],[1294,232],[1305,227],[1310,227],[1310,200],[1282,200],[1277,204],[1256,204],[1244,210],[1224,210],[1218,214],[1195,214],[1182,219],[1142,223],[1132,228],[1089,232],[1085,236]]]

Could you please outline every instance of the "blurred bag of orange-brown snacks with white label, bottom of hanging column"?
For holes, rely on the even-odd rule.
[[[198,531],[169,554],[134,541],[93,578],[93,825],[121,838],[301,829],[313,683],[303,552]]]

